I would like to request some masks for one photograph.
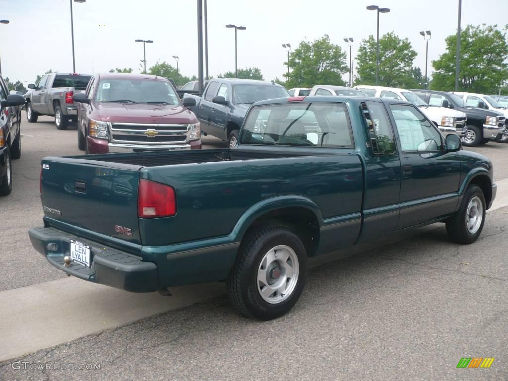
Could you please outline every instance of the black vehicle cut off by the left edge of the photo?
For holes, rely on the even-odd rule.
[[[11,159],[21,156],[21,105],[25,99],[9,94],[4,78],[0,76],[0,196],[12,190]]]

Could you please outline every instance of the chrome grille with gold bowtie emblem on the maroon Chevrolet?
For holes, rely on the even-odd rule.
[[[139,145],[185,144],[186,124],[109,123],[112,143]]]

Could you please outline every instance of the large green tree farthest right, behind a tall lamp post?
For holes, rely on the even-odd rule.
[[[467,25],[460,34],[459,90],[493,93],[508,79],[506,30],[497,25]],[[457,35],[446,38],[447,51],[432,61],[432,88],[455,89]]]

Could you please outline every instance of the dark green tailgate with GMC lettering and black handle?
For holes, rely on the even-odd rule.
[[[44,215],[92,232],[140,244],[141,166],[69,157],[42,161]]]

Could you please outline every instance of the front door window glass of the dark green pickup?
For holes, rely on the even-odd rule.
[[[441,134],[435,129],[416,107],[408,105],[390,105],[402,151],[440,151]]]

